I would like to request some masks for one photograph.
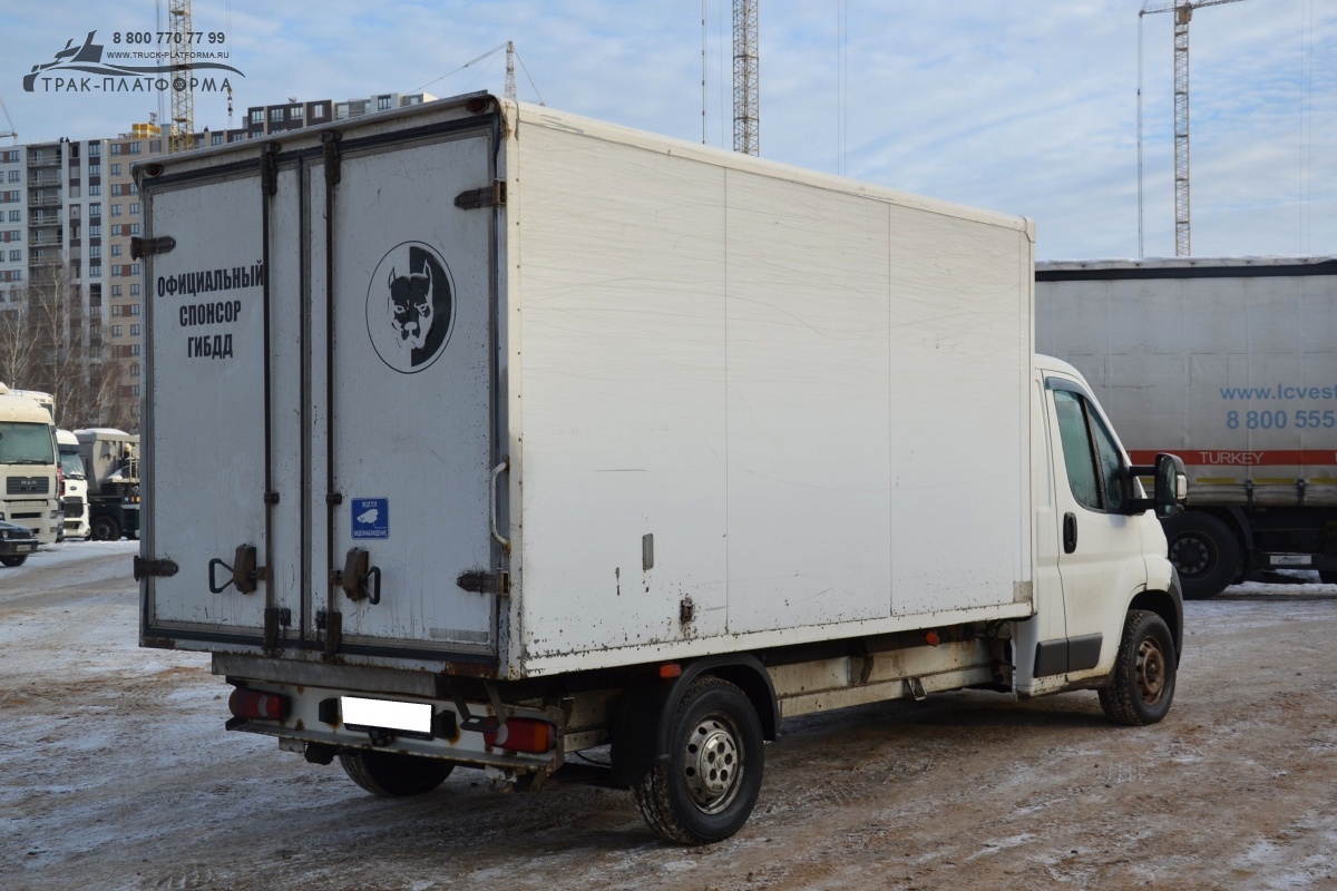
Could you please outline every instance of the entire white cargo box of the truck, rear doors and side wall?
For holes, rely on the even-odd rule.
[[[487,104],[140,171],[147,644],[520,679],[1032,612],[1025,220]]]

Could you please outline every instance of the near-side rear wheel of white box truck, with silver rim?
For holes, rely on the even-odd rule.
[[[718,677],[691,684],[668,728],[668,761],[632,787],[659,838],[709,844],[741,830],[761,793],[761,720],[741,689]]]

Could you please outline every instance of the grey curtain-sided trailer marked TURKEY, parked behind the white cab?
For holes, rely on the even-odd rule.
[[[1337,258],[1039,263],[1035,305],[1038,347],[1134,461],[1183,458],[1165,528],[1186,597],[1274,569],[1337,582]]]

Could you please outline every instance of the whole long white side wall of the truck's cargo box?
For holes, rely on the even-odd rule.
[[[531,123],[508,162],[523,671],[1012,609],[1020,226],[615,135]]]

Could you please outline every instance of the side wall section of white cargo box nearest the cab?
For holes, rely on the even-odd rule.
[[[892,592],[897,614],[1008,604],[1031,578],[1031,246],[892,218]]]

